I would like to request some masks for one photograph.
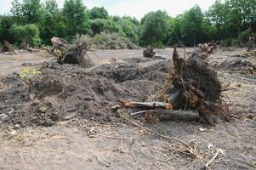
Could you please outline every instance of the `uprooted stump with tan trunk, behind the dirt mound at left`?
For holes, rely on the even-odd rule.
[[[80,37],[74,44],[69,44],[60,37],[52,37],[51,42],[53,47],[49,51],[57,57],[60,64],[77,64],[82,67],[91,67],[94,65],[92,59],[87,55],[88,52],[93,52],[88,42],[80,41]]]

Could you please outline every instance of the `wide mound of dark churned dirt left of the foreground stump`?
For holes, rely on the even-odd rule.
[[[165,83],[168,65],[161,61],[83,69],[54,64],[42,67],[41,79],[33,85],[27,85],[17,74],[3,77],[1,82],[8,88],[0,91],[0,122],[21,127],[52,126],[75,116],[115,121],[111,106],[122,99],[147,99]]]

